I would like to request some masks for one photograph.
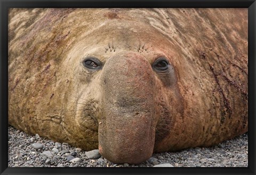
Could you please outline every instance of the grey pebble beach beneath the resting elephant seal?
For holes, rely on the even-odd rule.
[[[8,128],[9,167],[245,167],[248,166],[247,133],[207,148],[190,148],[178,152],[153,154],[141,164],[114,164],[103,158],[99,150],[85,152],[67,143],[30,136]]]

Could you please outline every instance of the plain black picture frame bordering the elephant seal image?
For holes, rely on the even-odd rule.
[[[1,174],[255,174],[255,0],[57,0],[57,1],[18,1],[1,0],[1,87],[0,87],[0,173]],[[7,142],[7,12],[12,7],[235,7],[249,11],[249,164],[247,168],[8,168]]]

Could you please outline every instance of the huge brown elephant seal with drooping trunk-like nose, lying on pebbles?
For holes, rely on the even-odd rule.
[[[11,9],[9,124],[114,163],[248,130],[247,9]]]

